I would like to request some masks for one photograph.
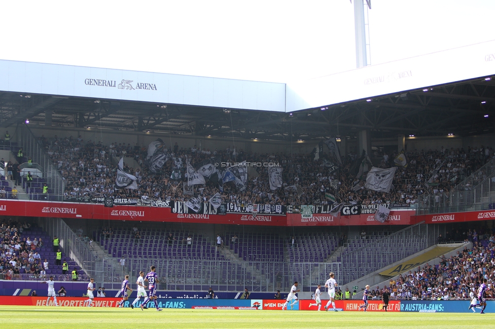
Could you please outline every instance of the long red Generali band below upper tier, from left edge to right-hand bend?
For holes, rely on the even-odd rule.
[[[416,223],[414,210],[391,211],[384,223],[375,221],[374,215],[350,215],[333,217],[329,214],[313,214],[302,219],[301,214],[253,215],[253,214],[174,214],[167,207],[142,207],[138,205],[114,205],[77,202],[48,202],[27,200],[0,200],[0,216],[61,217],[81,219],[155,221],[207,224],[240,224],[267,226],[339,226],[339,225],[411,225]]]

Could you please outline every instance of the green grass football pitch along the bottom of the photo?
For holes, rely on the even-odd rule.
[[[488,328],[495,314],[0,306],[4,328]]]

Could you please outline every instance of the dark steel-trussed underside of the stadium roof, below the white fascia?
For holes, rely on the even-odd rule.
[[[494,109],[495,79],[489,76],[292,113],[0,92],[0,127],[29,119],[41,126],[51,121],[60,130],[93,126],[268,140],[353,137],[360,130],[372,138],[470,136],[494,132]]]

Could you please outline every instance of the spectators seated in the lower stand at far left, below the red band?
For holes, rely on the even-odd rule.
[[[19,278],[21,273],[45,278],[48,261],[42,260],[38,250],[43,246],[42,238],[21,238],[21,233],[31,225],[27,222],[4,222],[0,226],[0,273],[5,279]]]

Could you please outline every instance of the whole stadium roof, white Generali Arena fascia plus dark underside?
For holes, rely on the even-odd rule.
[[[297,141],[494,132],[495,40],[291,84],[0,60],[0,127]],[[453,81],[453,82],[452,82]]]

